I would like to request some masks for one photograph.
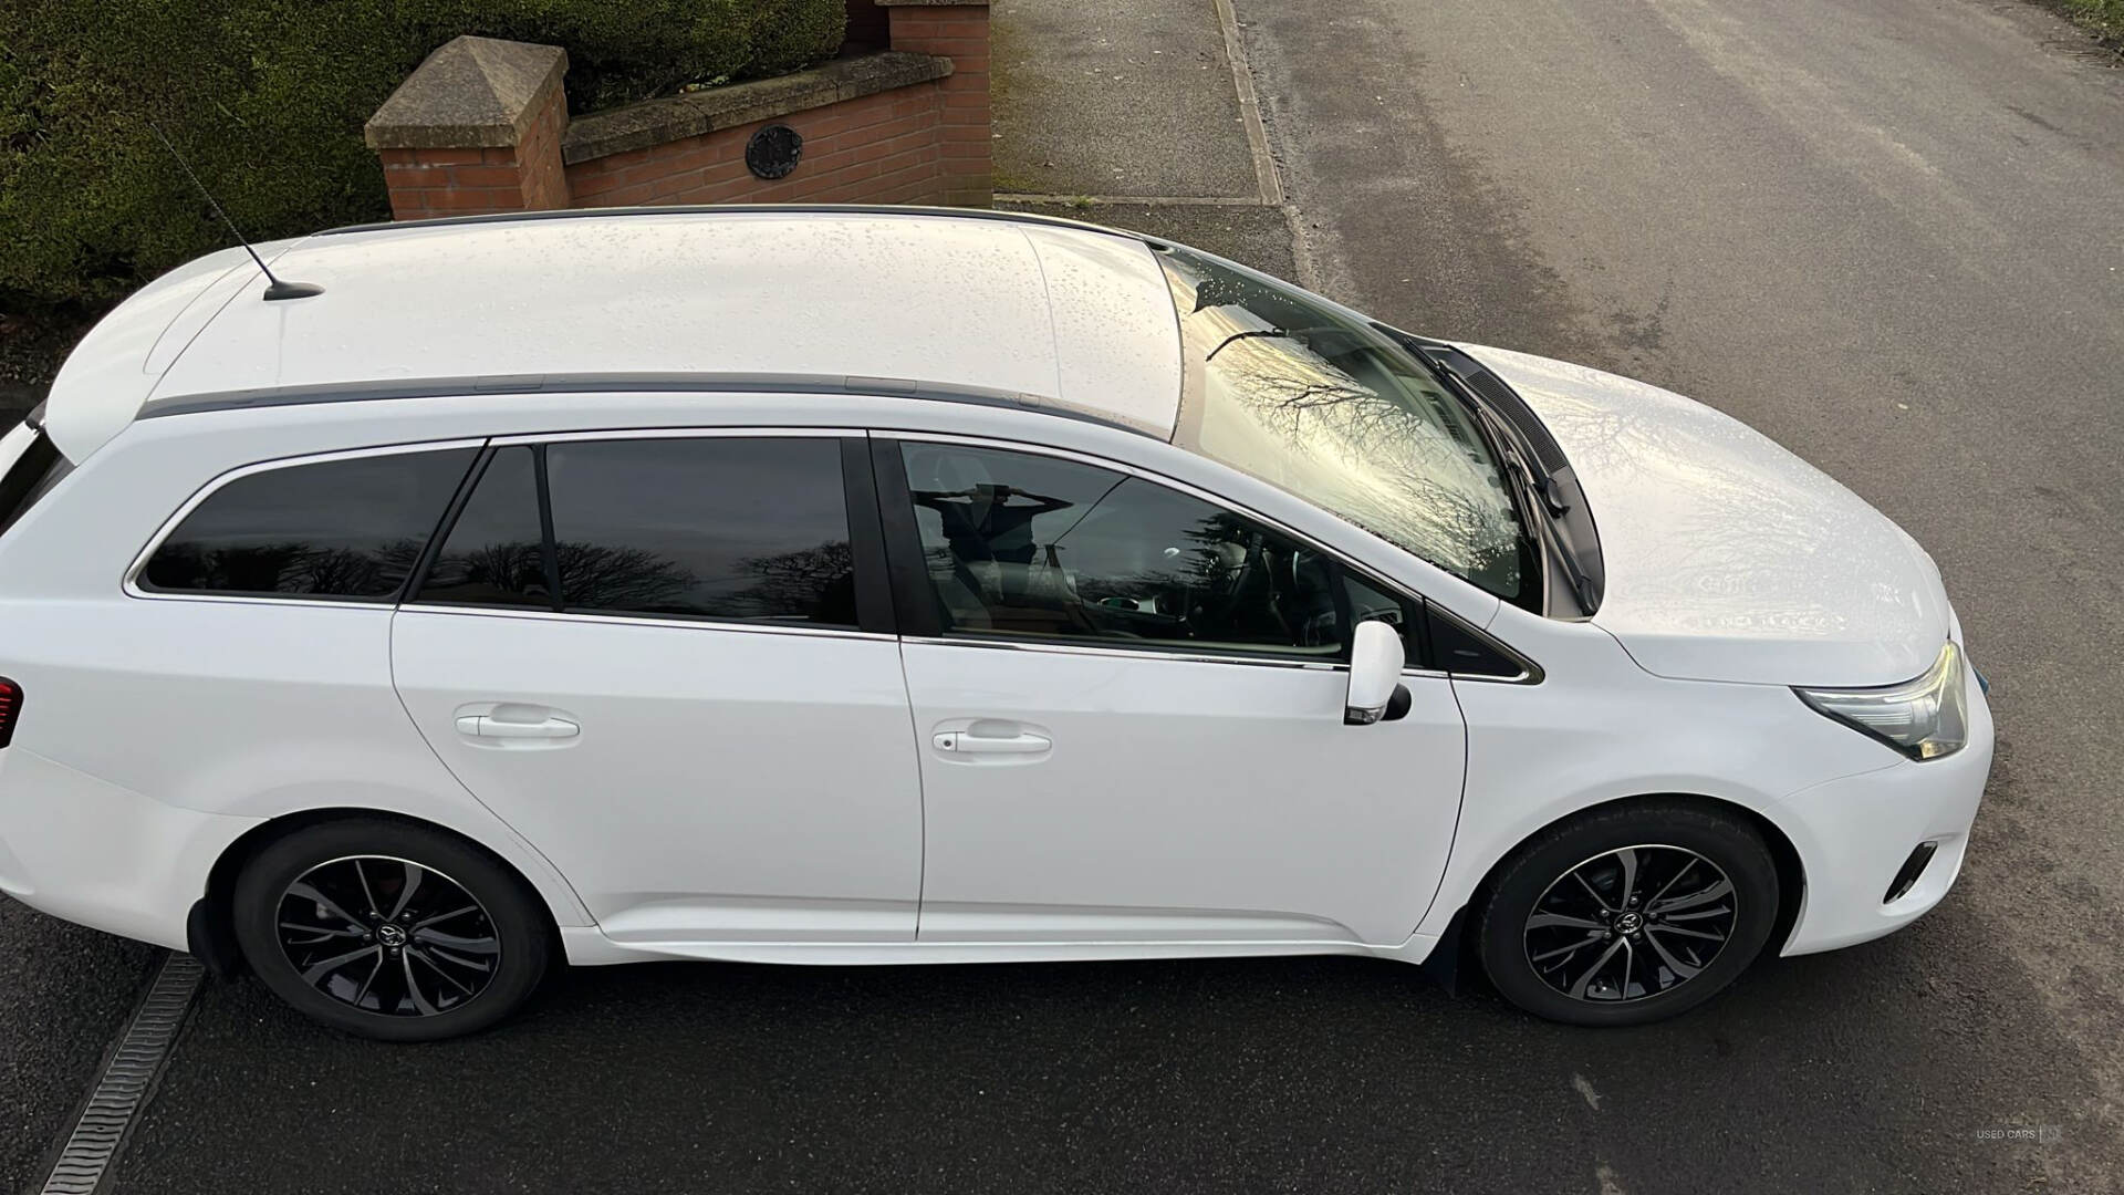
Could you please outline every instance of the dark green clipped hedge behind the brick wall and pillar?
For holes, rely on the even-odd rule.
[[[0,313],[100,306],[229,245],[389,217],[361,123],[457,34],[567,47],[569,106],[794,70],[845,0],[0,0]]]

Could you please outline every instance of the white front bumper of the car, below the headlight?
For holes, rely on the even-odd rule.
[[[1990,708],[1973,670],[1967,685],[1969,746],[1943,759],[1901,759],[1814,785],[1782,802],[1788,814],[1782,823],[1799,848],[1808,882],[1784,955],[1835,950],[1895,933],[1954,887],[1992,763]],[[1937,853],[1916,885],[1886,899],[1920,842],[1937,842]]]

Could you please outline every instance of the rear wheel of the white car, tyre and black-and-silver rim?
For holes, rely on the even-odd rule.
[[[236,942],[306,1016],[382,1042],[486,1029],[537,989],[546,908],[484,851],[348,819],[274,840],[238,874]]]

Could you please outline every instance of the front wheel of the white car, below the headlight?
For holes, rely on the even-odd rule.
[[[1476,914],[1476,950],[1497,993],[1536,1016],[1646,1025],[1740,978],[1769,940],[1778,897],[1769,846],[1740,817],[1631,802],[1514,851]]]

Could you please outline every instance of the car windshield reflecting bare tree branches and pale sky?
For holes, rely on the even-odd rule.
[[[1540,576],[1504,472],[1400,344],[1296,287],[1160,247],[1187,391],[1175,442],[1523,606]],[[1200,376],[1196,372],[1200,370]]]

